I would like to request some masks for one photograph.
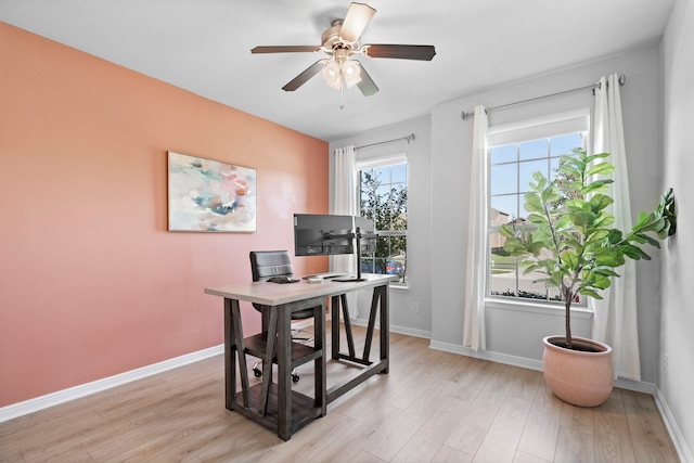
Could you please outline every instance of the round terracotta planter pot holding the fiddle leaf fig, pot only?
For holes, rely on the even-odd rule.
[[[544,381],[556,397],[579,407],[597,407],[607,400],[614,384],[612,347],[582,337],[573,337],[573,342],[583,350],[560,347],[565,336],[548,336],[542,342]]]

